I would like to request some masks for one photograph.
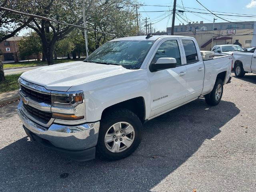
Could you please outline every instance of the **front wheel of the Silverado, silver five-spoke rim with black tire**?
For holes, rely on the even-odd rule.
[[[103,116],[96,146],[104,160],[119,160],[132,154],[141,141],[142,123],[127,109],[119,109]]]

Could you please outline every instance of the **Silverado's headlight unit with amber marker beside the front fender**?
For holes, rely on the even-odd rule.
[[[80,120],[84,118],[84,92],[51,92],[52,117],[63,120]],[[79,105],[83,104],[83,105]]]

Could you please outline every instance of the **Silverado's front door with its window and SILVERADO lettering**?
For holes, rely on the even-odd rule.
[[[180,42],[178,38],[162,40],[156,47],[151,63],[159,58],[175,58],[176,68],[150,72],[150,96],[151,112],[150,117],[166,112],[184,102],[186,95],[187,71],[180,53]]]

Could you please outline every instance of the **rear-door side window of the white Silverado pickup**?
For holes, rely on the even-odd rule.
[[[192,40],[182,40],[184,46],[187,64],[198,61],[198,55],[196,52],[196,46]]]

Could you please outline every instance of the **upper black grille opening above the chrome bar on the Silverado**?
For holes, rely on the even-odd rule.
[[[36,102],[52,104],[51,95],[30,90],[22,85],[20,86],[20,89],[26,97],[29,97]]]

